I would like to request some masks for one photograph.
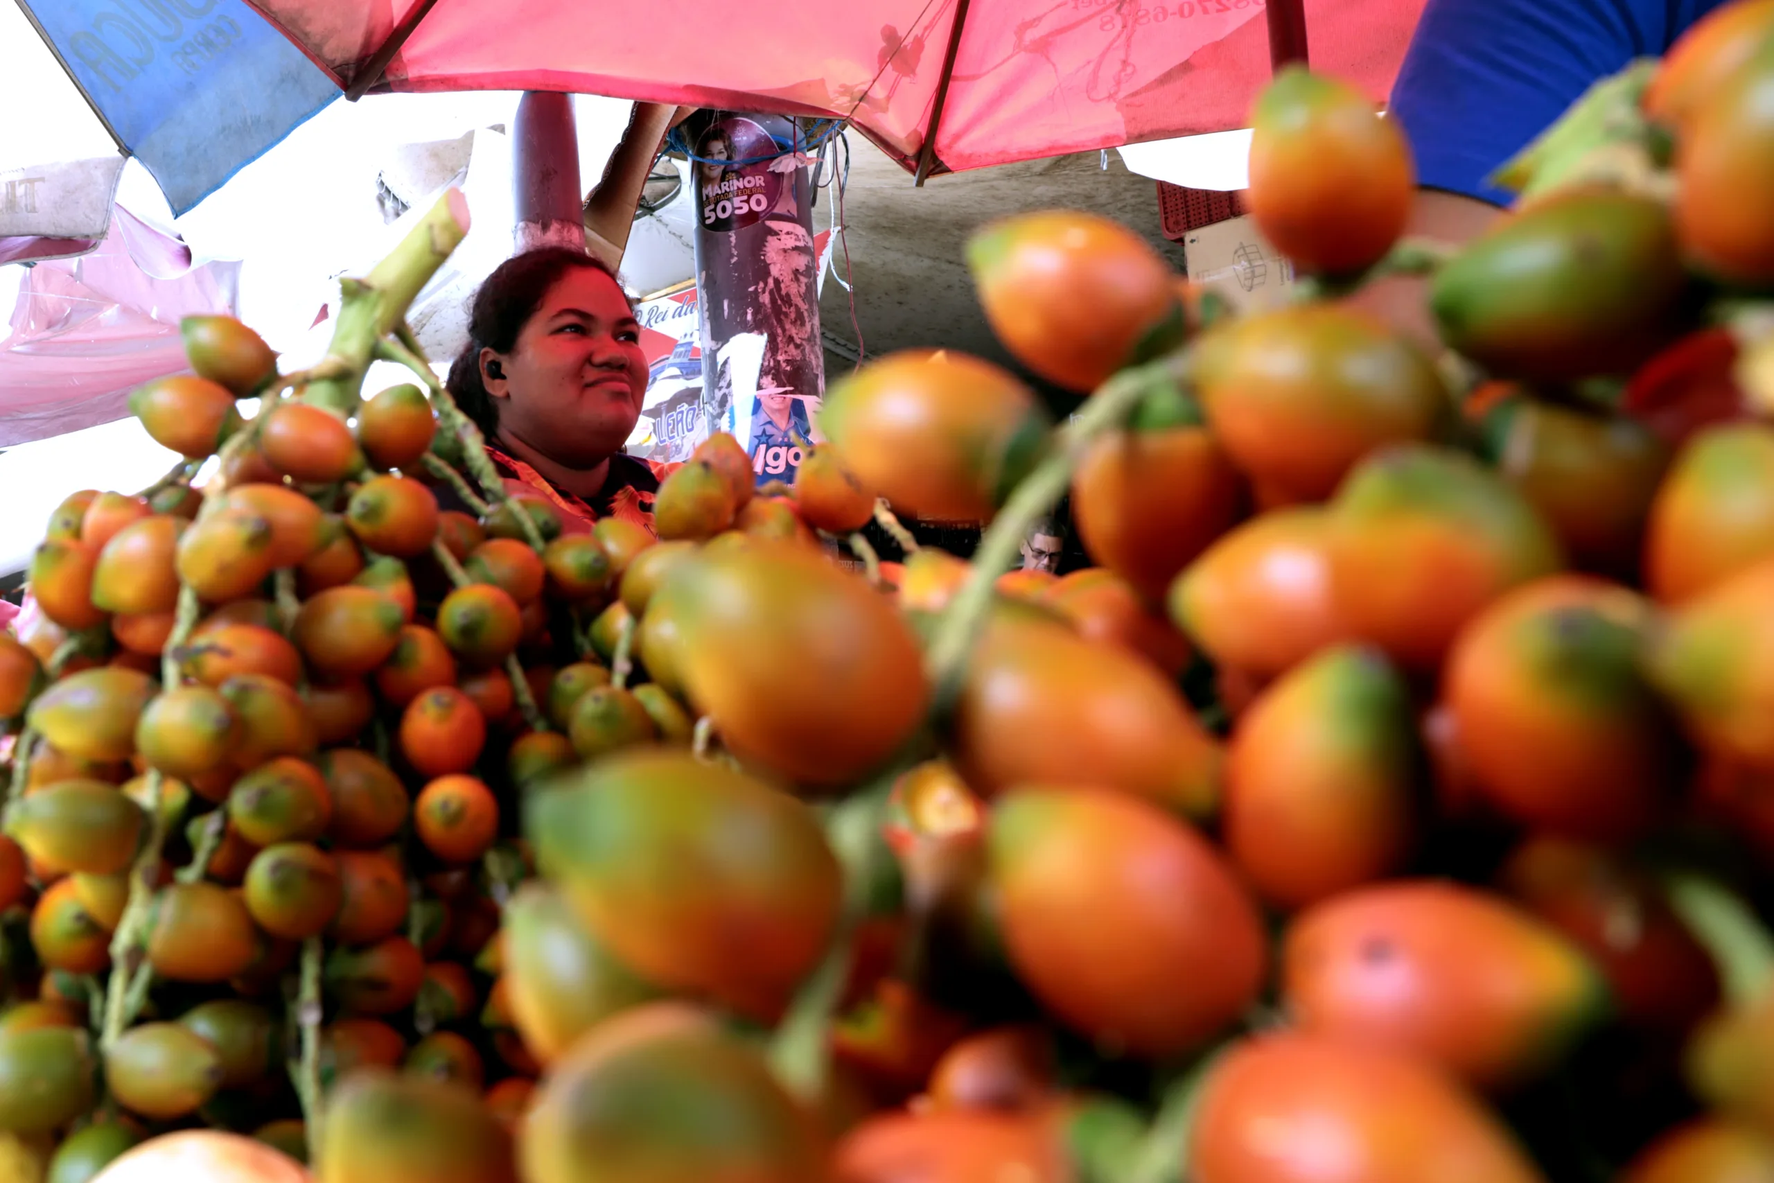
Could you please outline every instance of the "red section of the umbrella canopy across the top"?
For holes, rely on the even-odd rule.
[[[1270,74],[1263,0],[252,4],[355,94],[578,90],[841,115],[908,168],[935,124],[933,172],[1238,128]],[[1304,0],[1313,66],[1384,99],[1421,9]]]

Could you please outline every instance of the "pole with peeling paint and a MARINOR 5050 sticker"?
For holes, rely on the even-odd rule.
[[[779,115],[699,112],[687,131],[699,158],[701,438],[729,431],[759,484],[793,484],[825,394],[812,168]]]

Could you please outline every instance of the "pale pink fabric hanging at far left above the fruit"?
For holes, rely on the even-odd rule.
[[[0,339],[0,447],[128,415],[130,392],[186,369],[179,319],[232,312],[238,262],[192,266],[179,239],[114,208],[87,255],[34,266]]]

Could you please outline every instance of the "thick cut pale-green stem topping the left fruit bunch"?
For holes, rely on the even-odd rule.
[[[436,273],[451,252],[468,234],[468,202],[461,190],[445,192],[419,220],[387,259],[364,278],[341,280],[339,319],[334,326],[326,360],[337,362],[339,376],[310,381],[302,399],[348,419],[357,411],[364,374],[376,360],[383,339],[392,333],[412,307],[413,296]]]

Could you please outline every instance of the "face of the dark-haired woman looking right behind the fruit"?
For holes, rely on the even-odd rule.
[[[640,417],[640,325],[614,278],[573,268],[543,296],[511,353],[481,351],[481,378],[498,399],[502,435],[555,463],[591,468],[621,450]]]

